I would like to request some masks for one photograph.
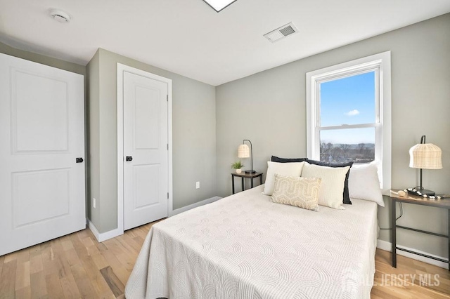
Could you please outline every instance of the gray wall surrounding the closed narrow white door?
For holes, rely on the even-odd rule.
[[[99,232],[117,227],[117,62],[172,79],[174,209],[214,197],[217,190],[214,86],[99,49],[87,67],[89,82],[98,85],[98,91],[90,85],[89,93],[90,139],[98,136],[89,147],[93,166],[88,202]]]

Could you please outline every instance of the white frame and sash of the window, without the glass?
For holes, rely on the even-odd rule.
[[[391,187],[391,59],[390,51],[307,72],[307,157],[320,160],[320,131],[375,128],[375,163],[380,187],[388,194]],[[375,123],[321,126],[320,84],[356,74],[375,71]]]

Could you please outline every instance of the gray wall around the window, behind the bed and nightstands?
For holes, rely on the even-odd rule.
[[[216,88],[217,194],[231,194],[230,164],[242,140],[253,143],[254,168],[266,172],[271,154],[306,157],[306,73],[341,62],[391,51],[392,187],[418,185],[409,168],[409,148],[427,135],[442,148],[442,170],[424,170],[423,184],[449,193],[450,178],[450,14],[297,60]],[[293,37],[294,38],[294,37]],[[281,41],[283,42],[283,41]],[[250,166],[249,159],[243,159]],[[380,208],[380,227],[391,227],[390,199]],[[446,211],[404,204],[406,226],[446,234]],[[390,231],[380,239],[390,241]],[[446,239],[398,230],[398,243],[448,256]]]

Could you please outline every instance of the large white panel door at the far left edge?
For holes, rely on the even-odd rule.
[[[0,54],[0,255],[83,230],[84,79]]]

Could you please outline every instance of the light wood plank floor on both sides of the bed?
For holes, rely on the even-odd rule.
[[[124,298],[124,286],[151,225],[103,243],[90,230],[82,230],[2,255],[0,298]],[[377,249],[372,298],[450,298],[449,270],[401,255],[397,269],[390,262],[390,253]]]

